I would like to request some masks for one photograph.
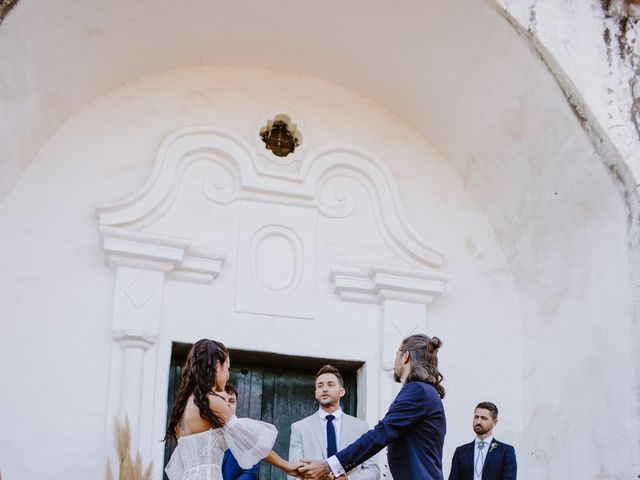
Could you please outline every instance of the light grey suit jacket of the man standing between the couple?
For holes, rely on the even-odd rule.
[[[340,425],[340,441],[338,451],[349,446],[369,430],[367,422],[344,413]],[[291,440],[289,441],[289,462],[296,462],[301,458],[307,460],[326,460],[327,441],[322,431],[322,423],[318,412],[303,418],[291,425]],[[293,480],[294,477],[287,477]],[[352,480],[378,480],[380,469],[376,457],[372,457],[349,474]]]

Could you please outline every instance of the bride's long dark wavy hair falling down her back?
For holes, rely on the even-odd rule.
[[[209,409],[209,394],[213,393],[216,384],[216,364],[222,365],[228,356],[227,347],[215,340],[203,338],[193,344],[182,372],[182,383],[171,406],[165,441],[176,441],[176,427],[191,395],[204,420],[213,428],[223,426],[224,422]]]

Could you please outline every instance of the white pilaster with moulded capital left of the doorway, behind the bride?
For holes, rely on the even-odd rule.
[[[165,281],[209,283],[226,255],[194,247],[187,239],[118,227],[102,226],[100,235],[105,262],[116,272],[107,442],[113,442],[114,419],[127,415],[132,451],[151,458],[152,424],[141,419],[143,408],[153,405],[147,397],[155,391]]]

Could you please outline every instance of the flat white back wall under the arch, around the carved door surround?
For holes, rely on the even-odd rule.
[[[382,159],[393,172],[411,224],[444,254],[442,270],[451,281],[429,307],[427,330],[445,342],[441,362],[451,399],[445,461],[455,444],[469,437],[467,420],[481,398],[503,408],[501,436],[516,443],[522,326],[514,285],[491,226],[446,161],[400,119],[352,92],[259,70],[188,69],[132,82],[88,105],[50,139],[2,203],[1,242],[12,252],[3,262],[1,280],[8,319],[2,323],[3,337],[11,339],[1,356],[3,364],[12,365],[2,370],[2,383],[12,385],[1,409],[7,435],[1,440],[0,466],[6,478],[102,474],[114,273],[103,264],[97,245],[95,205],[134,192],[149,174],[160,142],[174,130],[209,124],[251,141],[254,122],[283,105],[295,106],[309,148],[348,142]],[[184,208],[180,202],[175,203],[178,212]],[[163,221],[149,229],[181,225],[177,230],[206,239],[210,228],[171,220],[171,214]],[[319,246],[341,236],[323,221],[327,229]],[[370,254],[361,250],[369,246],[322,250],[314,320],[235,312],[225,300],[233,297],[231,274],[206,286],[168,282],[163,322],[169,322],[170,336],[184,340],[206,334],[235,348],[323,357],[348,351],[347,358],[379,362],[379,333],[366,334],[372,329],[349,321],[356,307],[332,293],[325,268],[336,261],[364,266]],[[393,259],[389,252],[375,251],[383,262]],[[379,309],[356,310],[362,308]],[[167,320],[172,318],[180,323]],[[332,342],[327,332],[335,328],[345,336]],[[358,334],[366,341],[356,341]],[[486,342],[502,347],[488,355]],[[469,362],[478,357],[500,371],[499,382],[470,375]],[[36,378],[41,380],[34,384]],[[32,388],[33,395],[24,393]],[[38,412],[38,421],[24,422],[16,411]],[[365,415],[373,421],[379,414],[369,409]],[[35,437],[41,448],[33,451],[29,445]]]

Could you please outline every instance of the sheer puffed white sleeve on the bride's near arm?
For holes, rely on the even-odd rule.
[[[235,416],[222,427],[222,433],[242,468],[251,468],[269,455],[278,436],[276,427],[269,423]]]

